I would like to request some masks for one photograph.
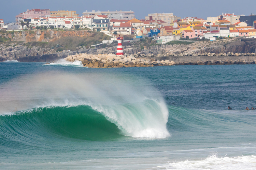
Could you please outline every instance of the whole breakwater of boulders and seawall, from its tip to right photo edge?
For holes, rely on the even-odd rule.
[[[139,53],[140,55],[140,53]],[[168,55],[168,54],[167,54]],[[137,55],[136,55],[137,56]],[[179,60],[176,60],[177,56],[166,57],[134,57],[133,55],[115,55],[115,54],[75,54],[69,55],[64,58],[66,61],[75,62],[81,61],[83,66],[88,68],[121,68],[121,67],[154,67],[154,66],[173,66],[173,65],[230,65],[230,64],[255,64],[255,54],[202,54],[203,58],[198,57],[200,55],[179,55]],[[216,57],[213,57],[216,56]],[[238,58],[236,58],[238,56]],[[250,56],[250,60],[246,59],[246,56]],[[245,59],[241,59],[245,57]],[[240,58],[240,59],[239,59]],[[248,58],[248,57],[247,57]],[[169,59],[169,60],[168,60]],[[173,61],[174,60],[174,61]],[[194,60],[194,61],[193,61]]]

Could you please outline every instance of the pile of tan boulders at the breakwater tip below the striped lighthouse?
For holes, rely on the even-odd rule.
[[[175,65],[173,61],[156,60],[154,58],[136,58],[132,55],[115,55],[115,54],[76,54],[64,58],[66,61],[81,61],[83,66],[89,68],[121,68],[121,67],[154,67],[154,66],[171,66]]]

